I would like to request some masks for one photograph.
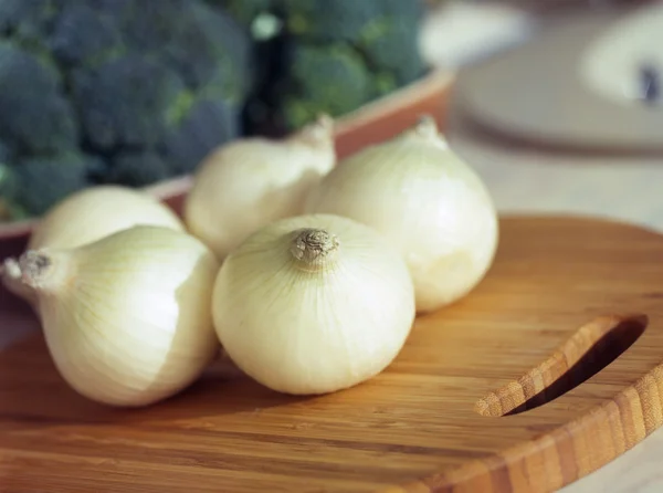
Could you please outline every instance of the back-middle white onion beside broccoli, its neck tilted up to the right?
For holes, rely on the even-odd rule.
[[[299,214],[335,160],[326,115],[281,140],[233,140],[199,167],[185,202],[187,228],[222,260],[259,228]]]

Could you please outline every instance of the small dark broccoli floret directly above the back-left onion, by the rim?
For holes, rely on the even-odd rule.
[[[156,153],[120,153],[113,159],[106,181],[144,187],[171,176],[168,164]]]

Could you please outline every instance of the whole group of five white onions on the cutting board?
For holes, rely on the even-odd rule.
[[[418,313],[483,279],[497,237],[488,192],[432,118],[338,160],[320,116],[210,154],[181,219],[125,187],[69,197],[2,281],[90,399],[166,399],[220,347],[266,387],[316,395],[382,371]]]

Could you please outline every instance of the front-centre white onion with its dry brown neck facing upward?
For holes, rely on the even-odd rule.
[[[347,218],[270,223],[225,259],[213,292],[219,339],[234,364],[281,392],[360,384],[398,355],[414,319],[400,253]]]

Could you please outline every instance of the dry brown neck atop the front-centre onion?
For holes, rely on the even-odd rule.
[[[305,228],[295,231],[290,252],[296,265],[308,272],[327,269],[336,259],[338,238],[323,229]]]

